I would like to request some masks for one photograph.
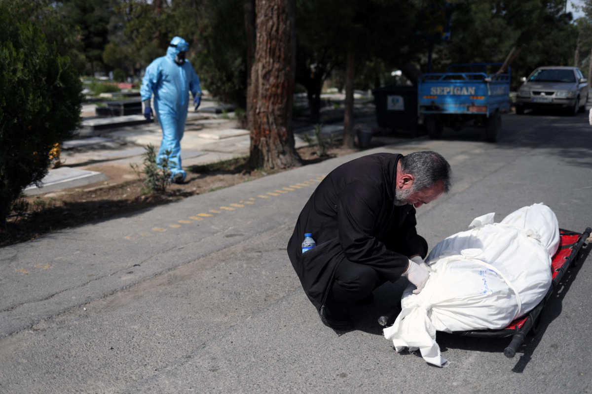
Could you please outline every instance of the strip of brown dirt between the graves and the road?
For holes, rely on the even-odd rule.
[[[356,151],[358,149],[329,146],[326,154],[319,157],[315,146],[307,146],[298,149],[298,154],[303,159],[303,164],[307,165]],[[87,168],[104,173],[110,180],[84,188],[24,198],[21,214],[12,214],[5,228],[0,227],[0,247],[280,172],[249,171],[246,167],[246,158],[233,159],[185,168],[187,177],[184,184],[170,185],[165,194],[146,194],[143,181],[131,168],[129,171],[112,165],[95,165]]]

